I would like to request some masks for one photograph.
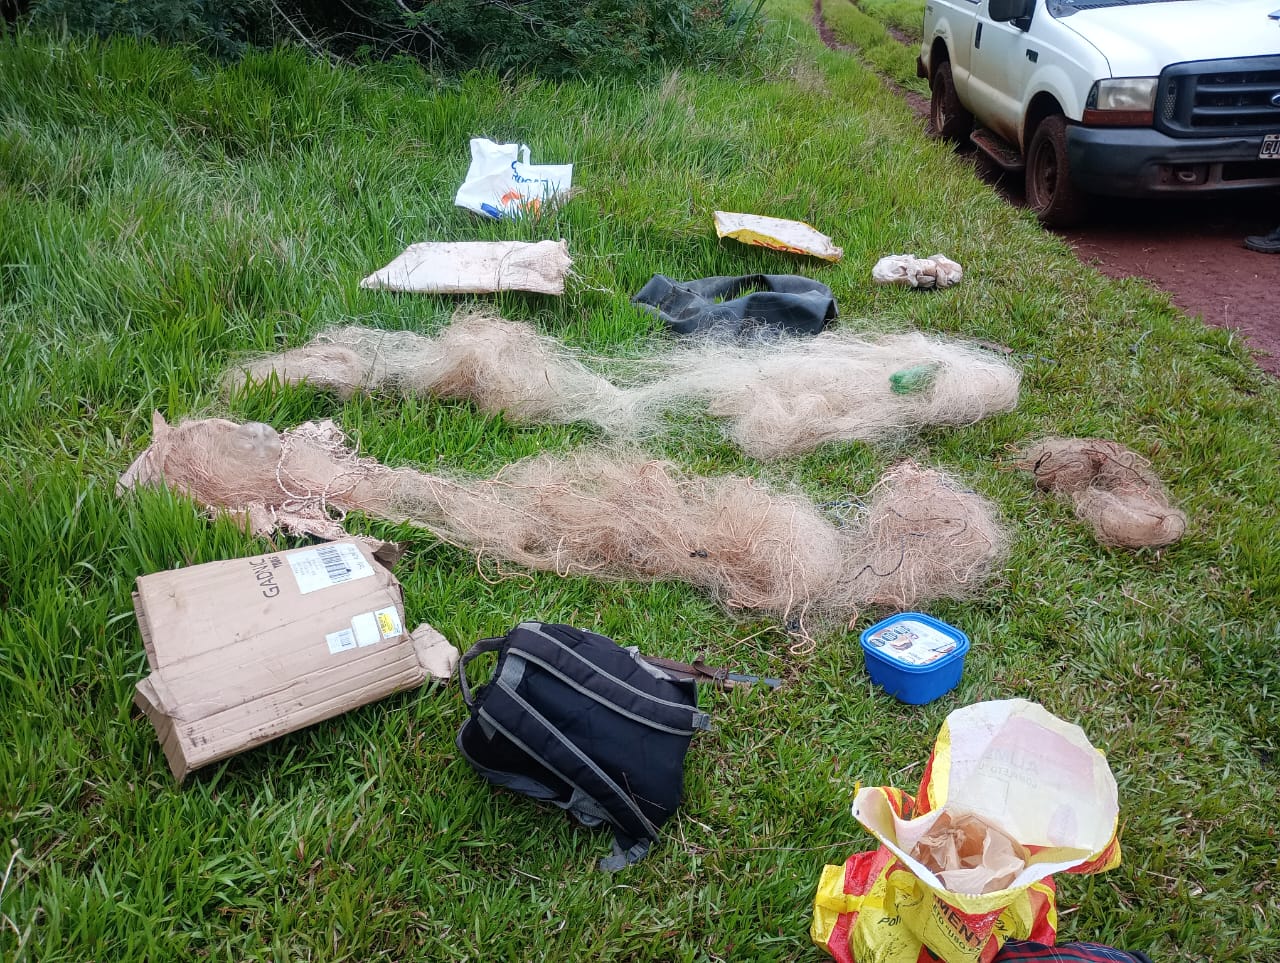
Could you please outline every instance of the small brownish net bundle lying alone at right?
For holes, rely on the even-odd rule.
[[[1158,548],[1187,531],[1187,515],[1170,502],[1151,464],[1102,438],[1046,438],[1018,467],[1036,487],[1069,498],[1105,546]]]

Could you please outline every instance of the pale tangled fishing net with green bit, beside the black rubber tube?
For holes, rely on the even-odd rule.
[[[654,434],[663,415],[723,419],[748,455],[774,458],[826,442],[883,442],[923,425],[963,425],[1011,411],[1019,373],[965,344],[923,334],[864,338],[824,332],[748,344],[695,341],[645,361],[602,360],[617,382],[527,324],[461,316],[435,337],[337,328],[310,344],[250,362],[230,385],[308,382],[358,391],[471,401],[515,421],[590,423],[604,433]]]

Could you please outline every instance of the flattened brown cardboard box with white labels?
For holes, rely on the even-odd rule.
[[[151,665],[133,700],[179,781],[457,660],[406,631],[399,583],[356,540],[143,575],[133,607]]]

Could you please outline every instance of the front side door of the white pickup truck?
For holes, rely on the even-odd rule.
[[[1038,6],[1038,4],[1037,4]],[[1032,14],[1043,17],[1043,12]],[[1023,91],[1034,63],[1028,51],[1028,32],[1012,23],[997,23],[980,0],[969,51],[968,91],[961,93],[980,122],[1010,143],[1018,143]]]

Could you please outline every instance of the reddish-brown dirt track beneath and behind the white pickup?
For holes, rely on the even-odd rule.
[[[828,1],[858,6],[858,0]],[[813,10],[823,42],[858,56],[858,47],[841,44],[827,26],[823,0],[814,0]],[[913,37],[881,26],[897,42],[915,47]],[[928,123],[928,100],[865,65]],[[980,151],[961,154],[1005,200],[1025,204],[1020,177],[1006,174]],[[1257,254],[1242,243],[1245,234],[1265,234],[1280,224],[1280,192],[1170,201],[1106,198],[1105,206],[1092,224],[1055,233],[1071,245],[1080,261],[1102,274],[1146,280],[1188,315],[1235,329],[1248,341],[1258,364],[1280,375],[1280,255]]]

